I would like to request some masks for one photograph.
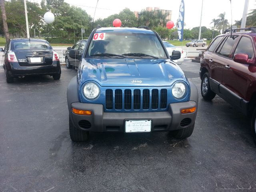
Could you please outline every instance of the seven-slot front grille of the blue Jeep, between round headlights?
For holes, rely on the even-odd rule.
[[[108,110],[165,109],[167,89],[106,89],[105,107]]]

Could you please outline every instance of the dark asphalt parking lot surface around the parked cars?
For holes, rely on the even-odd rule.
[[[250,119],[216,96],[200,94],[200,64],[180,67],[199,92],[195,129],[178,140],[166,132],[92,133],[74,143],[66,88],[75,69],[7,84],[0,67],[0,191],[256,191],[256,146]]]

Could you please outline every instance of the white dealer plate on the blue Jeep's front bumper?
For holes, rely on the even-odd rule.
[[[125,132],[150,132],[151,120],[129,120],[125,122]]]

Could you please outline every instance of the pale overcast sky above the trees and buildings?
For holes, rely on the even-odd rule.
[[[40,3],[40,0],[32,0]],[[97,0],[65,0],[70,5],[76,5],[86,10],[93,17]],[[131,11],[140,11],[146,7],[159,7],[164,10],[172,10],[172,21],[176,23],[179,14],[181,0],[98,0],[98,6],[95,12],[94,20],[98,18],[106,18],[112,14],[118,14],[124,8]],[[245,0],[232,0],[232,18],[233,24],[235,20],[240,20],[244,11]],[[202,8],[202,0],[184,0],[185,16],[184,28],[192,29],[200,26],[200,16]],[[256,0],[249,0],[248,13],[250,10],[256,9]],[[212,19],[218,18],[218,15],[226,12],[226,19],[231,24],[230,0],[203,0],[202,26],[210,28],[213,24]]]

